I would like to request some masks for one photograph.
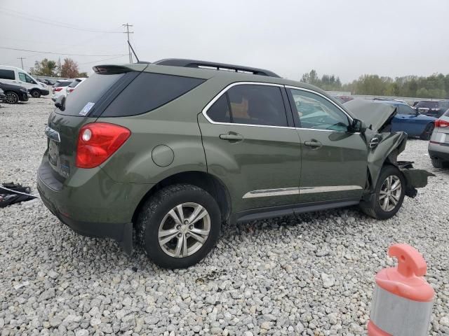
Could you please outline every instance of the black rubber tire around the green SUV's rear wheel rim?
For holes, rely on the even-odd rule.
[[[161,244],[159,244],[159,228],[165,225],[163,224],[164,218],[168,220],[167,216],[169,211],[177,207],[178,204],[187,203],[199,204],[206,209],[210,217],[210,221],[208,222],[210,223],[210,231],[206,241],[203,242],[198,251],[195,251],[192,255],[175,258],[166,253],[161,247]],[[185,218],[187,217],[188,215]],[[175,184],[157,191],[143,204],[137,218],[138,244],[144,248],[147,256],[156,265],[168,269],[185,268],[201,261],[217,243],[218,237],[220,236],[220,228],[220,208],[217,202],[215,202],[215,199],[205,190],[187,183]],[[173,239],[179,242],[177,237]],[[190,243],[198,244],[196,240],[192,239],[194,238],[190,237]],[[167,244],[176,245],[174,241],[169,241]],[[166,245],[164,245],[165,247]]]

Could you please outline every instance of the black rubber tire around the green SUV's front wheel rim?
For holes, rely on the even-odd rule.
[[[384,183],[386,183],[387,177],[389,176],[396,176],[398,180],[401,181],[401,194],[400,196],[397,197],[398,198],[397,200],[395,199],[397,204],[394,206],[394,208],[387,210],[382,209],[380,204],[380,197],[381,197],[381,188],[384,187]],[[385,165],[384,167],[382,167],[379,178],[377,179],[377,184],[374,190],[374,197],[370,202],[362,201],[360,203],[360,209],[370,217],[380,220],[389,219],[393,217],[399,211],[399,209],[401,209],[401,205],[405,195],[406,195],[406,179],[404,179],[403,174],[401,173],[401,171],[399,171],[398,168],[392,165]],[[382,195],[382,197],[385,196]]]

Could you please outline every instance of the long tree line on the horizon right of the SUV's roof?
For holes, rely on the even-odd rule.
[[[449,98],[449,74],[434,73],[431,76],[386,77],[362,75],[351,83],[342,84],[335,75],[323,75],[315,70],[302,75],[301,81],[327,91],[350,91],[351,94],[375,96]]]

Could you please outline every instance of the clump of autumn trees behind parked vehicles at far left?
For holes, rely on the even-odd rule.
[[[44,58],[40,62],[34,62],[34,66],[29,69],[29,73],[35,76],[62,78],[87,77],[86,72],[79,72],[78,63],[71,58],[65,58],[62,64],[60,59],[53,61]]]

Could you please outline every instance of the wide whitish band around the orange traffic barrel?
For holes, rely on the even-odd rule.
[[[394,336],[428,335],[434,301],[420,302],[389,293],[375,286],[370,320]]]

